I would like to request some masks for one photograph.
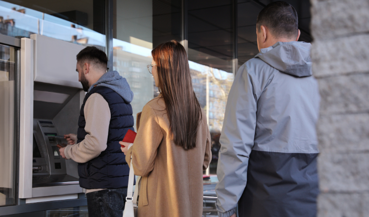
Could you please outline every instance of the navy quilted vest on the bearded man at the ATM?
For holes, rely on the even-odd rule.
[[[128,129],[133,129],[132,107],[112,89],[97,86],[86,94],[78,120],[77,142],[87,135],[84,108],[87,99],[99,93],[109,104],[110,124],[107,148],[99,156],[87,163],[78,163],[79,184],[85,189],[117,189],[128,186],[129,167],[119,141],[123,140]]]

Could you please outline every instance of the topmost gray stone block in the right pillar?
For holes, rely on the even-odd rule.
[[[311,0],[314,40],[369,31],[368,0]]]

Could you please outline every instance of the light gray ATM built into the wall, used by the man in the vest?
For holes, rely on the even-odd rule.
[[[77,163],[60,156],[77,133],[85,92],[78,81],[81,45],[34,34],[21,39],[19,198],[26,204],[77,199]]]

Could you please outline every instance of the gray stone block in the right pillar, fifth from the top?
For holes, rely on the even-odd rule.
[[[320,153],[319,189],[322,192],[369,191],[369,153]]]

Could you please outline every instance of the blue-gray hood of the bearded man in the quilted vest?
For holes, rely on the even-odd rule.
[[[106,86],[117,92],[125,102],[130,103],[133,100],[133,92],[125,78],[119,75],[117,71],[110,71],[101,76],[101,78],[91,85],[90,90],[95,86]]]

